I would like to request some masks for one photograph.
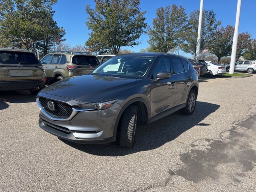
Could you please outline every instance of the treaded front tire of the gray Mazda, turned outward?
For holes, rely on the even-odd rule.
[[[138,108],[135,105],[128,106],[122,114],[119,142],[123,148],[132,148],[134,146],[137,115]]]

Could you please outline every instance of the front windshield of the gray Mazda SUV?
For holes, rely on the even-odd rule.
[[[114,56],[96,68],[92,74],[142,77],[146,74],[153,59],[153,57],[144,56]]]

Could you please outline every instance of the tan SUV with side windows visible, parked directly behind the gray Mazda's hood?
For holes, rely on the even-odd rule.
[[[89,74],[100,63],[96,56],[86,52],[62,51],[49,53],[41,60],[49,83],[64,78]]]

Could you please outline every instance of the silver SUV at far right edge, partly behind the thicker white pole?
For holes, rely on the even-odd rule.
[[[229,72],[230,65],[226,65],[226,71]],[[235,71],[246,71],[254,73],[256,71],[256,61],[238,61],[235,64]]]

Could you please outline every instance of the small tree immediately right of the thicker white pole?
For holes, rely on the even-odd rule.
[[[249,32],[238,34],[236,61],[250,48],[251,41],[251,34],[249,34]]]

